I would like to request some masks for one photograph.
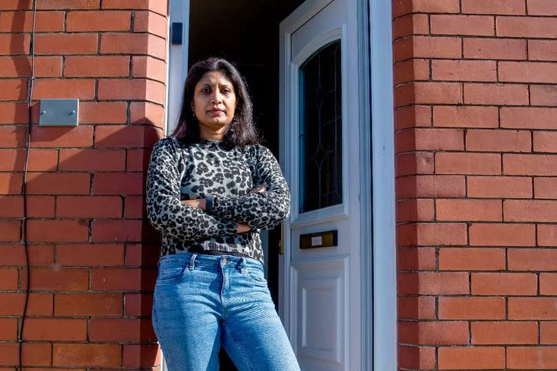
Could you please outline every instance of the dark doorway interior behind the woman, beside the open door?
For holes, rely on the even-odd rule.
[[[303,0],[191,0],[188,64],[217,56],[235,63],[254,102],[262,144],[279,158],[279,23]],[[267,275],[278,306],[281,230],[269,231]],[[221,351],[221,370],[236,370]]]

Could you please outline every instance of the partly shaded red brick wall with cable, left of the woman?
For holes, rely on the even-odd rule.
[[[23,365],[158,365],[158,253],[144,219],[149,149],[162,136],[163,0],[37,0],[28,174],[30,297]],[[27,286],[22,180],[31,0],[0,2],[0,367],[17,365]],[[79,98],[78,127],[38,127],[41,98]]]

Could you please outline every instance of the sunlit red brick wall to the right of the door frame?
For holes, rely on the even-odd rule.
[[[557,370],[557,1],[394,0],[401,370]]]

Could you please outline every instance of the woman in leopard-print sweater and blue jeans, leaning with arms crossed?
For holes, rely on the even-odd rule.
[[[153,148],[146,207],[162,232],[153,327],[169,370],[218,370],[221,345],[239,370],[300,370],[259,238],[290,215],[290,191],[227,61],[188,72],[177,129]]]

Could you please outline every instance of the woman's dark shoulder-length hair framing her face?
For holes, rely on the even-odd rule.
[[[223,145],[235,147],[243,145],[254,145],[261,141],[260,134],[253,122],[252,98],[248,93],[243,76],[232,63],[225,59],[208,58],[191,66],[188,77],[184,83],[182,93],[182,107],[178,125],[172,136],[176,140],[185,143],[199,142],[199,122],[191,109],[195,86],[206,72],[222,72],[234,86],[236,94],[236,110],[232,122],[226,125],[223,132]]]

